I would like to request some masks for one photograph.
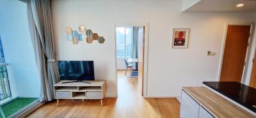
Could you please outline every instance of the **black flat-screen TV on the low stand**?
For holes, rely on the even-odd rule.
[[[95,80],[93,61],[58,61],[60,80]]]

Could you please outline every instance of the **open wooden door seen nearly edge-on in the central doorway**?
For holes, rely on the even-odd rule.
[[[138,38],[138,90],[143,96],[143,73],[144,73],[144,43],[145,43],[145,27],[140,27]]]

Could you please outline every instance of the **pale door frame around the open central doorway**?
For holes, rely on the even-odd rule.
[[[148,82],[148,23],[117,23],[114,25],[114,55],[115,55],[115,82],[116,82],[116,96],[118,97],[118,80],[117,80],[117,58],[116,58],[116,27],[120,26],[138,26],[138,27],[145,27],[145,42],[144,42],[144,61],[143,61],[143,97],[147,98],[147,82]]]

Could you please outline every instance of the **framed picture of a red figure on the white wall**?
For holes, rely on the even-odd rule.
[[[172,48],[188,48],[189,29],[173,29]]]

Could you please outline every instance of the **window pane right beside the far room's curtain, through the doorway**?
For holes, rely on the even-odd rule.
[[[132,27],[126,27],[125,34],[126,34],[125,57],[131,58],[132,57]]]

